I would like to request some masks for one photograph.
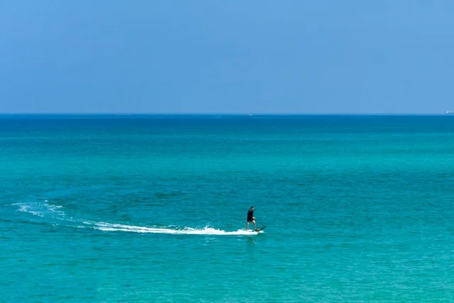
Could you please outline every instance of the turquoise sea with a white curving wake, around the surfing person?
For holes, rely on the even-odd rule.
[[[454,116],[0,116],[0,302],[452,302],[453,135]]]

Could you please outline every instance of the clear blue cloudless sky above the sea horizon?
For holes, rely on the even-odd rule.
[[[454,110],[454,1],[0,1],[0,112]]]

